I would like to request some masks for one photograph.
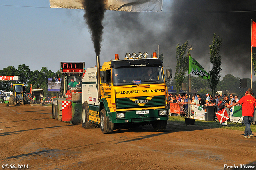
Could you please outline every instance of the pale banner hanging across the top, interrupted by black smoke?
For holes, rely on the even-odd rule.
[[[50,0],[50,8],[84,9],[83,0]],[[163,0],[106,0],[106,10],[162,12]]]

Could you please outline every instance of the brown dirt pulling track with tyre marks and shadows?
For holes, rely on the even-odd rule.
[[[224,164],[256,166],[256,134],[247,139],[242,131],[171,122],[165,132],[140,126],[102,134],[99,128],[83,129],[51,119],[51,112],[48,106],[0,104],[1,167],[28,164],[28,169],[35,170],[220,170]]]

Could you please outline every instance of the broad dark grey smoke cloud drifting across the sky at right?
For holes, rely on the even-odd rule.
[[[112,40],[112,48],[122,42],[122,48],[115,49],[119,55],[124,51],[152,53],[159,45],[165,66],[170,66],[174,74],[176,46],[186,40],[194,48],[192,57],[207,72],[212,69],[209,45],[216,33],[222,38],[222,75],[245,78],[250,77],[251,18],[256,22],[255,7],[255,0],[164,0],[162,13],[106,13],[112,22],[106,24],[109,31],[104,36]],[[111,30],[119,34],[110,34]],[[252,50],[256,52],[256,47]]]

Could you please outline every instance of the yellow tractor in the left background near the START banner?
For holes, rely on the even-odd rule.
[[[24,84],[13,84],[12,95],[10,95],[9,104],[28,104],[27,93]]]

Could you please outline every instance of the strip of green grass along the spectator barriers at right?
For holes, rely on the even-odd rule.
[[[185,118],[180,116],[169,116],[169,123],[171,124],[185,124]],[[232,129],[232,130],[240,130],[244,131],[244,124],[236,124],[234,122],[228,122],[228,126],[222,126],[220,122],[212,122],[212,121],[203,121],[203,120],[195,120],[195,126],[204,126],[209,128],[223,128],[223,129]],[[256,125],[251,125],[251,129],[253,133],[256,133]]]

